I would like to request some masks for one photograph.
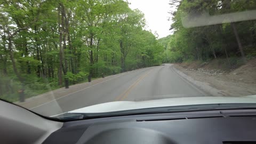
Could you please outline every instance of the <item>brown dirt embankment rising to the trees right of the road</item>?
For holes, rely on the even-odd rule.
[[[256,94],[256,59],[245,65],[230,69],[226,61],[183,62],[174,66],[178,70],[221,91],[225,96]]]

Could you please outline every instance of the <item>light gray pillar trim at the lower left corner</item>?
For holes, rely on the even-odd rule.
[[[63,123],[0,100],[0,143],[42,143]]]

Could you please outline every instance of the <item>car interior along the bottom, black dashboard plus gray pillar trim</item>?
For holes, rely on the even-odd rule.
[[[1,143],[256,143],[255,109],[58,122],[5,101],[0,108]]]

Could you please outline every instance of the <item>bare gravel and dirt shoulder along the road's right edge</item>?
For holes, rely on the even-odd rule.
[[[202,69],[188,69],[178,64],[174,67],[193,78],[195,82],[202,82],[217,89],[219,92],[214,96],[239,97],[256,94],[255,67],[250,63],[229,73],[206,73]]]

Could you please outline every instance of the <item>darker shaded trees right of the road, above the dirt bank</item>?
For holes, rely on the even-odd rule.
[[[170,11],[173,34],[159,39],[165,49],[163,62],[221,59],[227,68],[236,68],[255,58],[255,19],[189,28],[182,25],[182,18],[191,13],[198,17],[235,13],[236,17],[237,12],[255,10],[255,0],[171,0],[170,6],[177,9]]]

